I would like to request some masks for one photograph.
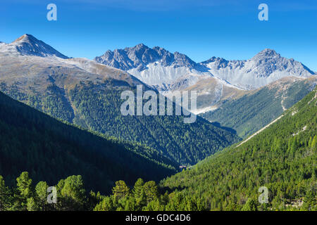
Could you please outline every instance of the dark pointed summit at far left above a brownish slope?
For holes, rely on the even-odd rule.
[[[31,34],[23,34],[10,44],[1,45],[0,52],[18,53],[22,56],[56,56],[59,58],[68,58]]]

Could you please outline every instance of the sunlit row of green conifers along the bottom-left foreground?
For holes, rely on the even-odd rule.
[[[130,188],[125,181],[116,181],[112,195],[85,190],[82,176],[68,176],[58,181],[56,203],[48,191],[46,181],[32,184],[28,172],[23,172],[16,179],[14,188],[5,185],[0,176],[0,211],[154,211],[154,210],[206,210],[203,201],[182,195],[178,191],[161,194],[155,181],[137,179]]]

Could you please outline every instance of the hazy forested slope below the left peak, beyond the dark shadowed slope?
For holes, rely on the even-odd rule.
[[[14,60],[20,68],[21,62],[18,58]],[[201,117],[192,124],[185,124],[182,116],[122,115],[120,105],[125,100],[120,99],[120,94],[125,90],[135,91],[133,82],[142,84],[129,81],[129,75],[124,72],[94,63],[91,67],[106,70],[96,75],[80,68],[68,68],[70,65],[65,63],[56,66],[49,61],[45,65],[47,62],[37,60],[33,60],[35,68],[2,73],[0,91],[80,127],[146,144],[179,164],[194,165],[240,140],[236,134],[214,127]],[[144,90],[146,88],[144,85]]]

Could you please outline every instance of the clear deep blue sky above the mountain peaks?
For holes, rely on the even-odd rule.
[[[58,20],[46,20],[46,6]],[[258,6],[268,4],[268,21]],[[32,34],[71,57],[144,43],[185,53],[247,59],[270,48],[317,71],[316,0],[1,0],[0,41]]]

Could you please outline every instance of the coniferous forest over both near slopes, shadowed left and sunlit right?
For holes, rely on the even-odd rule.
[[[137,147],[126,149],[127,143],[105,140],[58,122],[4,94],[0,97],[1,146],[4,146],[1,148],[0,172],[4,175],[0,176],[0,210],[317,210],[317,89],[249,141],[230,146],[172,176],[175,167],[168,165],[166,159],[158,157],[149,161],[138,154]],[[19,121],[21,117],[27,118],[30,124]],[[51,129],[39,130],[45,126]],[[35,140],[42,136],[46,141],[39,147]],[[8,139],[14,148],[4,143]],[[74,139],[77,148],[73,149],[70,143]],[[102,150],[85,151],[89,141],[94,141],[94,146],[100,144]],[[120,157],[113,155],[118,158],[106,161],[104,154],[111,156],[107,147],[116,148]],[[98,154],[97,162],[90,161],[96,160],[94,154]],[[44,160],[44,155],[49,155],[47,160],[51,161],[41,165],[37,160]],[[59,157],[63,160],[56,162]],[[27,160],[14,161],[21,158]],[[119,167],[120,160],[125,158],[129,158],[133,169],[125,169],[130,164]],[[116,167],[108,165],[114,162]],[[13,170],[14,175],[13,165],[20,165]],[[47,169],[54,172],[41,174],[41,166],[45,167],[43,172]],[[111,168],[116,169],[111,175],[123,179],[113,181],[107,176],[105,171]],[[156,181],[149,179],[154,177],[149,173],[138,176],[149,168],[156,172]],[[58,172],[59,169],[63,172]],[[70,176],[62,177],[66,173]],[[162,179],[163,176],[169,177]],[[49,186],[56,187],[56,204],[46,202]],[[260,204],[258,196],[262,186],[268,188],[269,199],[268,203]]]

